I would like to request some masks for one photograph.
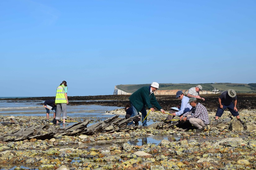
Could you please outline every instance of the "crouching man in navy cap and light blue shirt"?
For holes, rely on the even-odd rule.
[[[177,91],[176,93],[176,98],[178,98],[179,100],[181,100],[181,106],[179,108],[178,106],[178,112],[176,108],[171,108],[170,110],[170,114],[168,115],[166,121],[169,123],[170,120],[173,119],[174,116],[182,116],[184,113],[189,112],[192,108],[192,106],[188,103],[189,98],[187,96],[184,96],[182,91]]]

